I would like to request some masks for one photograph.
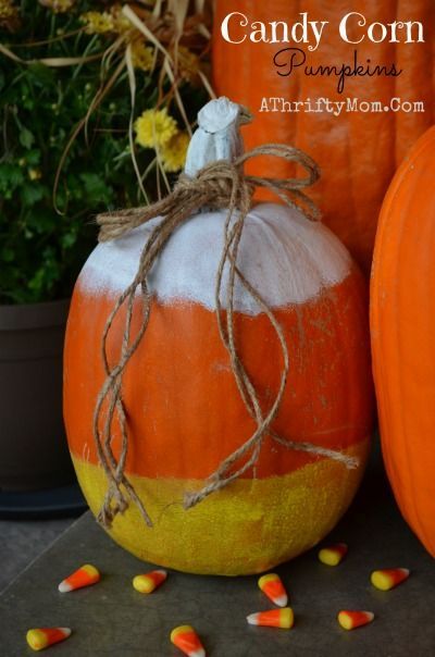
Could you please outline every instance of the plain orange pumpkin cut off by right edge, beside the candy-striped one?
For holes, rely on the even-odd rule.
[[[435,557],[435,127],[385,197],[371,289],[385,466],[400,510]]]

